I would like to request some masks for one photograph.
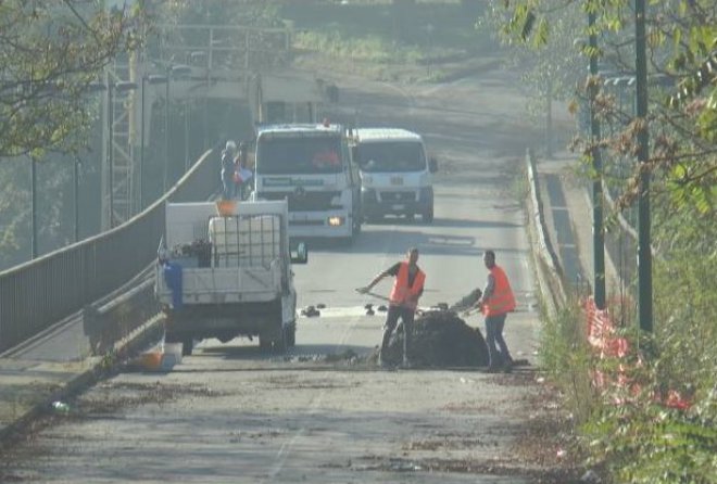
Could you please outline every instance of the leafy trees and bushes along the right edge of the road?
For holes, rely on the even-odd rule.
[[[618,323],[614,336],[627,342],[625,354],[601,357],[586,343],[586,315],[577,301],[545,324],[542,362],[575,419],[574,453],[608,482],[715,483],[717,7],[710,1],[650,2],[649,71],[651,79],[661,81],[651,81],[644,124],[631,112],[633,85],[614,88],[620,86],[617,79],[634,76],[634,20],[624,2],[556,7],[519,1],[508,9],[505,2],[490,3],[482,25],[492,27],[513,47],[515,62],[528,67],[525,79],[542,92],[542,106],[550,106],[551,97],[571,99],[584,126],[589,89],[596,88],[592,106],[603,136],[595,140],[579,132],[574,147],[588,178],[600,175],[591,169],[591,153],[601,150],[605,183],[616,201],[607,214],[609,231],[619,235],[618,217],[634,221],[640,175],[646,169],[653,180],[654,331],[637,328],[633,273],[622,273],[628,291],[614,292],[620,301],[608,296]],[[588,12],[596,17],[596,49],[588,47]],[[566,50],[573,54],[565,55]],[[600,63],[599,76],[587,74],[590,56]],[[557,91],[545,89],[551,77],[551,89]],[[637,136],[645,126],[651,154],[638,166]]]

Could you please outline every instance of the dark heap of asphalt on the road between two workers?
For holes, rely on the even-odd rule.
[[[399,324],[381,355],[388,365],[403,359],[403,326]],[[477,328],[453,310],[427,310],[416,315],[410,348],[411,365],[422,368],[485,367],[488,346]]]

